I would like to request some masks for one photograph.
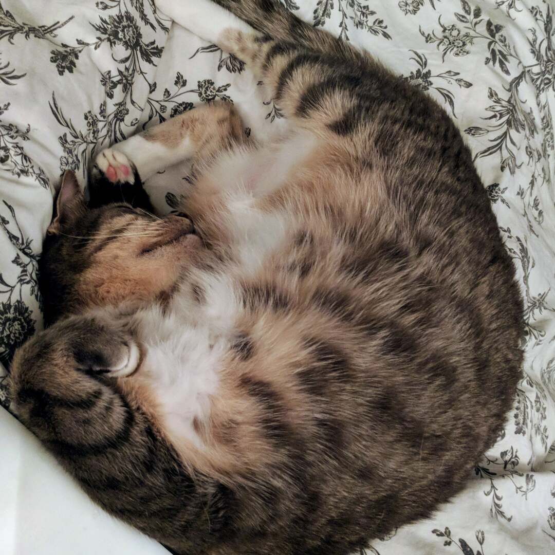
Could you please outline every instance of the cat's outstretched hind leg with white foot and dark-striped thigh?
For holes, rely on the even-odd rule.
[[[319,40],[310,48],[306,40],[295,40],[293,33],[287,33],[285,39],[275,39],[255,31],[210,0],[156,3],[175,22],[243,60],[297,128],[327,137],[350,135],[358,128],[367,105],[375,104],[372,95],[377,92],[372,91],[372,83],[367,79],[370,58],[342,47],[341,41],[334,39],[336,47],[332,48]],[[274,2],[267,0],[266,4]],[[264,30],[264,24],[258,24]]]

